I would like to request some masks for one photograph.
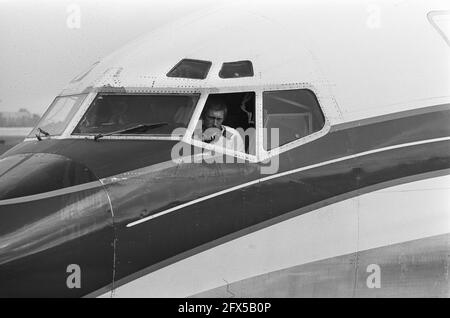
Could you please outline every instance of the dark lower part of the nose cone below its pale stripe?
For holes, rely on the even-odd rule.
[[[0,205],[0,297],[80,297],[112,286],[111,205],[98,187]],[[80,288],[69,288],[71,267]],[[68,283],[69,280],[69,283]]]

